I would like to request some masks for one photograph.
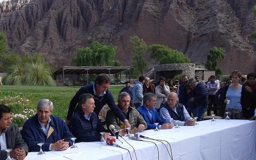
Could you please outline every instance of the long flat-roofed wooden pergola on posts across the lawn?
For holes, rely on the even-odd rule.
[[[124,70],[129,70],[129,81],[131,80],[131,72],[130,72],[130,67],[61,67],[59,70],[56,70],[54,72],[54,79],[56,80],[56,75],[58,74],[63,74],[63,86],[64,86],[64,75],[65,74],[86,74],[86,80],[88,84],[88,74],[102,74],[108,73],[108,76],[110,74],[117,74]]]

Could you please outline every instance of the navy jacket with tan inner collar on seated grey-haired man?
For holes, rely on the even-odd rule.
[[[48,134],[50,136],[47,138],[41,125],[38,120],[38,114],[29,118],[23,125],[22,128],[22,139],[28,145],[29,152],[38,152],[40,151],[39,145],[37,143],[45,143],[42,145],[43,151],[49,151],[49,146],[51,143],[55,143],[61,139],[64,141],[69,142],[70,145],[73,145],[73,142],[70,138],[74,137],[71,132],[69,131],[66,123],[56,116],[50,116],[50,129]],[[51,128],[52,127],[52,128]]]

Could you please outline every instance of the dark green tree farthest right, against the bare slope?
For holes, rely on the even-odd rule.
[[[221,68],[218,68],[218,61],[220,58],[224,59],[225,50],[221,48],[214,47],[213,49],[210,48],[209,53],[210,55],[207,56],[207,62],[205,63],[205,67],[207,70],[215,70],[216,75],[222,75],[223,71]]]

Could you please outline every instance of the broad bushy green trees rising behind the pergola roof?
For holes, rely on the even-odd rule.
[[[116,46],[102,45],[97,41],[93,41],[89,47],[78,49],[77,57],[72,60],[72,65],[82,66],[113,66]]]

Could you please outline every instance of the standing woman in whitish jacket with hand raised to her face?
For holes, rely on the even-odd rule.
[[[165,85],[165,77],[159,79],[159,85],[156,86],[156,110],[159,111],[159,108],[166,103],[167,95],[170,93],[170,87]]]

